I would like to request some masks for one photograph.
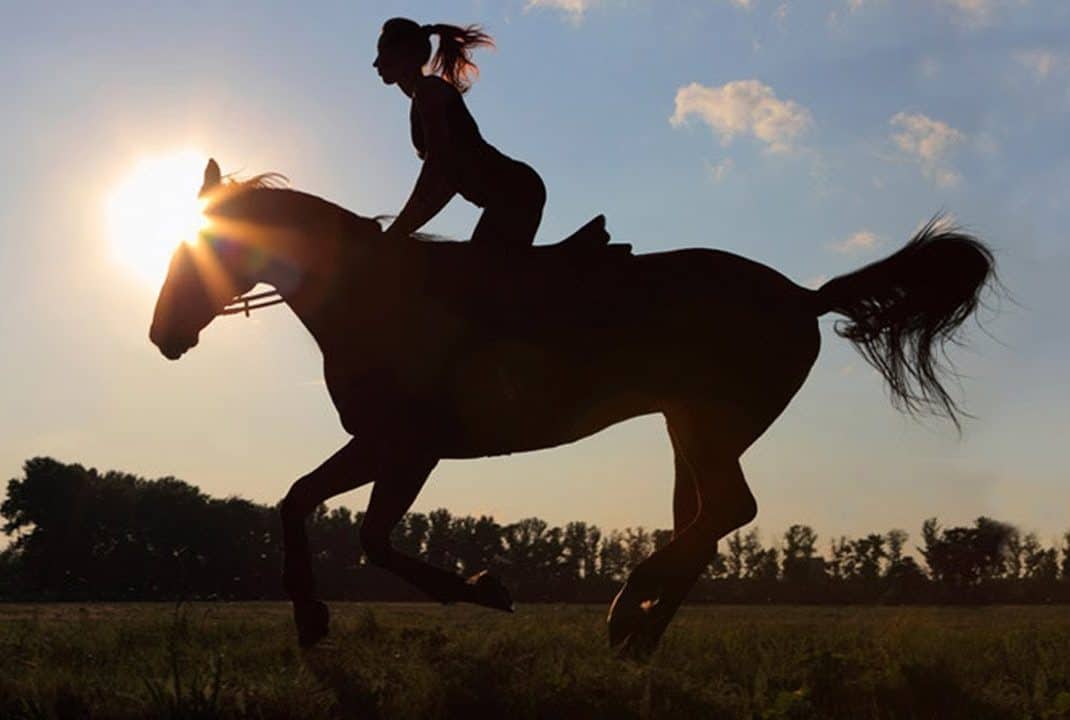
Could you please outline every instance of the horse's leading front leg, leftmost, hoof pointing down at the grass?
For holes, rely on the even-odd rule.
[[[326,635],[328,622],[327,607],[316,596],[305,518],[327,499],[374,480],[379,465],[378,456],[367,443],[358,445],[351,440],[294,482],[282,499],[282,587],[293,602],[302,647]]]

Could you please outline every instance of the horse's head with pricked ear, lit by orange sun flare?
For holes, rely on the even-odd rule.
[[[219,195],[242,189],[228,185],[219,166],[210,159],[199,194],[209,221],[193,243],[181,243],[171,256],[149,328],[149,339],[168,359],[178,359],[196,346],[201,330],[262,279],[257,273],[261,267],[248,262],[253,248],[229,235],[226,224],[216,217]]]

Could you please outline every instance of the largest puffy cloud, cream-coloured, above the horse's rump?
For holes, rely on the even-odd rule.
[[[675,111],[670,118],[679,126],[696,116],[729,144],[737,135],[752,135],[769,152],[788,152],[812,123],[810,112],[794,101],[779,99],[759,80],[735,80],[707,88],[698,82],[676,91]]]

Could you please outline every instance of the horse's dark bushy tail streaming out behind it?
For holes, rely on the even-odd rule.
[[[847,317],[837,335],[881,371],[892,404],[959,427],[961,411],[941,383],[952,370],[945,346],[959,342],[959,327],[994,279],[992,251],[937,215],[896,254],[823,285],[814,309]]]

